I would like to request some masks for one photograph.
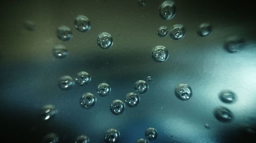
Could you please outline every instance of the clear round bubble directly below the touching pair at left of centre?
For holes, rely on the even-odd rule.
[[[84,108],[91,108],[96,102],[96,98],[91,93],[85,93],[80,99],[80,105]]]

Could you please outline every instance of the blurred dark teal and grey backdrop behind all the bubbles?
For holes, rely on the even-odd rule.
[[[80,134],[91,142],[103,142],[109,128],[120,131],[119,142],[145,138],[147,127],[158,131],[152,142],[254,142],[255,133],[245,132],[249,125],[255,132],[256,118],[256,22],[254,3],[250,1],[175,1],[173,19],[159,16],[163,1],[1,1],[0,34],[0,113],[1,138],[8,142],[41,142],[50,132],[60,142],[74,142]],[[78,15],[86,15],[91,30],[80,33],[74,27]],[[34,31],[24,28],[25,20],[36,23]],[[212,33],[197,35],[199,24],[209,22]],[[160,38],[157,30],[165,25],[183,24],[183,39]],[[60,41],[57,27],[67,25],[73,32],[70,41]],[[99,33],[108,32],[114,39],[110,49],[96,43]],[[224,48],[225,39],[239,36],[245,47],[238,53]],[[68,48],[65,59],[52,54],[56,44]],[[152,49],[165,46],[166,62],[156,63]],[[79,71],[88,72],[92,81],[63,91],[58,78]],[[140,95],[137,107],[125,108],[115,116],[109,107],[114,99],[124,100],[135,92],[137,80],[146,80],[149,90]],[[112,92],[100,97],[96,87],[109,83]],[[179,100],[174,89],[179,83],[189,84],[193,97]],[[237,102],[219,100],[222,90],[237,94]],[[83,93],[91,92],[95,106],[79,105]],[[55,105],[58,113],[50,122],[39,120],[40,108]],[[214,117],[214,109],[225,106],[233,112],[230,123]],[[204,127],[209,124],[210,129]]]

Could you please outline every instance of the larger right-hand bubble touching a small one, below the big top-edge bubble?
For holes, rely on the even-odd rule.
[[[182,39],[185,36],[185,28],[181,24],[175,24],[170,30],[170,38],[174,40]]]

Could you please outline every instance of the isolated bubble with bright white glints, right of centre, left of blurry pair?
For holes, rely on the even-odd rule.
[[[192,96],[192,90],[187,84],[179,84],[175,89],[175,95],[181,100],[188,100]]]

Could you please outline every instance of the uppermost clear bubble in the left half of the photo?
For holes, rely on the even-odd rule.
[[[87,32],[91,28],[90,20],[84,15],[78,15],[74,24],[79,32]]]

